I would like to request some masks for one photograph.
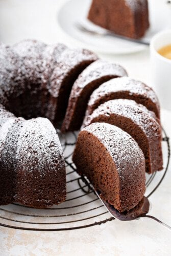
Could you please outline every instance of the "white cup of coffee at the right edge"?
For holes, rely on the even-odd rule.
[[[171,45],[171,30],[162,31],[151,40],[152,83],[161,107],[171,110],[171,60],[157,52],[166,45]]]

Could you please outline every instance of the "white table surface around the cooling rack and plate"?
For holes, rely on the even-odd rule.
[[[83,0],[80,0],[83,1]],[[0,40],[13,44],[35,38],[82,46],[68,38],[56,22],[65,0],[0,0]],[[123,65],[129,75],[151,85],[149,50],[131,55],[102,55]],[[171,137],[171,112],[162,110],[162,124]],[[152,210],[171,225],[171,173],[151,197]],[[171,255],[171,232],[152,220],[113,221],[86,229],[33,232],[0,227],[0,255]]]

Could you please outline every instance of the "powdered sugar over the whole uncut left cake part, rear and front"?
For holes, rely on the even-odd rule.
[[[56,102],[51,102],[54,84],[51,84],[50,80],[55,82],[54,90],[59,90],[60,83],[76,65],[80,65],[82,61],[96,59],[97,57],[87,50],[68,49],[63,44],[47,46],[37,40],[23,40],[13,47],[1,44],[0,103],[8,109],[11,97],[22,96],[28,90],[33,91],[33,97],[38,97],[35,105],[30,105],[30,108],[36,111],[40,109],[43,116],[47,115],[49,109],[55,112]],[[56,161],[57,166],[62,168],[64,157],[53,125],[42,118],[29,121],[15,118],[3,105],[0,106],[1,135],[3,140],[6,140],[7,131],[13,131],[12,139],[8,140],[9,144],[6,145],[9,149],[12,148],[11,143],[15,143],[15,146],[17,144],[17,155],[13,157],[18,161],[22,159],[29,166],[28,154],[33,154],[34,150],[36,153],[32,157],[34,159],[36,156],[40,165],[44,166],[44,159],[46,164]],[[18,134],[17,131],[21,132]],[[29,143],[30,148],[27,147]],[[16,154],[16,150],[14,151]],[[22,158],[19,157],[21,152],[24,156]],[[32,161],[30,163],[32,165]]]

